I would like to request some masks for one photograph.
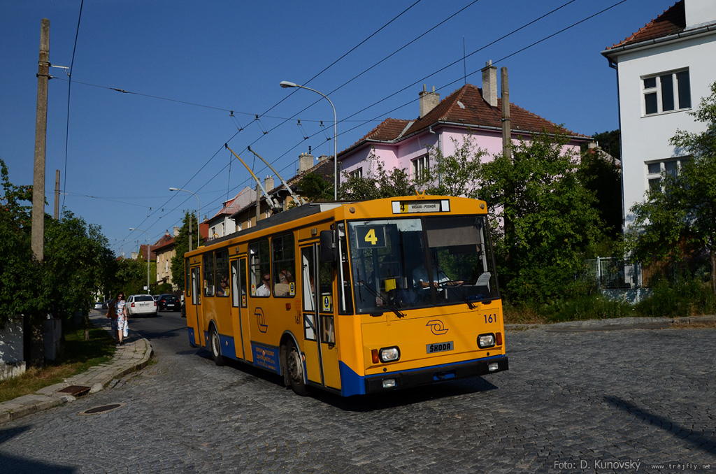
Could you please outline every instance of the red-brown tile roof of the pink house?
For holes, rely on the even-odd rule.
[[[510,104],[510,119],[513,132],[542,132],[547,130],[547,132],[558,131],[570,136],[589,138],[586,135],[559,127],[555,123],[515,104]],[[354,146],[366,140],[396,140],[399,137],[427,130],[430,125],[435,125],[437,122],[450,122],[465,125],[465,127],[490,127],[501,130],[502,99],[498,99],[497,107],[490,107],[483,100],[483,92],[480,88],[475,87],[473,84],[465,84],[440,101],[424,117],[412,122],[410,120],[386,119],[362,139],[358,140]],[[406,130],[405,127],[409,124],[410,127]]]

